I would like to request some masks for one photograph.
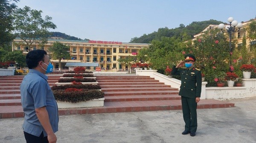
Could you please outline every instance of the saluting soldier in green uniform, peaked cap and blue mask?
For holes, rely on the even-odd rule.
[[[172,69],[172,75],[180,75],[181,86],[179,95],[181,96],[183,119],[185,121],[185,131],[183,135],[190,133],[195,136],[197,129],[197,103],[200,101],[202,75],[201,71],[194,67],[195,56],[185,55],[185,61],[180,62]],[[185,63],[185,67],[178,70]]]

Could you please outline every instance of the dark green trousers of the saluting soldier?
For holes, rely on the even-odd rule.
[[[196,132],[197,129],[197,103],[195,98],[181,96],[183,119],[185,121],[185,130]]]

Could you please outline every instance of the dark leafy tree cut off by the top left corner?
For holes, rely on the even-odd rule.
[[[19,0],[0,0],[0,47],[2,48],[15,38],[12,34],[12,14],[17,6],[15,3],[10,3],[11,1],[17,3]]]

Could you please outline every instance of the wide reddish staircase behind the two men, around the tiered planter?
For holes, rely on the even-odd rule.
[[[105,93],[104,107],[59,109],[59,115],[110,112],[139,112],[181,109],[178,89],[149,76],[96,76]],[[20,83],[24,76],[0,76],[0,118],[24,117],[20,103]],[[50,86],[61,75],[49,75]],[[234,107],[227,101],[201,100],[198,109]]]

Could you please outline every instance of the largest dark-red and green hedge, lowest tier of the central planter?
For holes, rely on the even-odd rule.
[[[65,90],[53,90],[52,92],[56,101],[66,101],[71,103],[90,101],[104,97],[104,92],[101,90],[82,90],[73,92],[65,92]]]

